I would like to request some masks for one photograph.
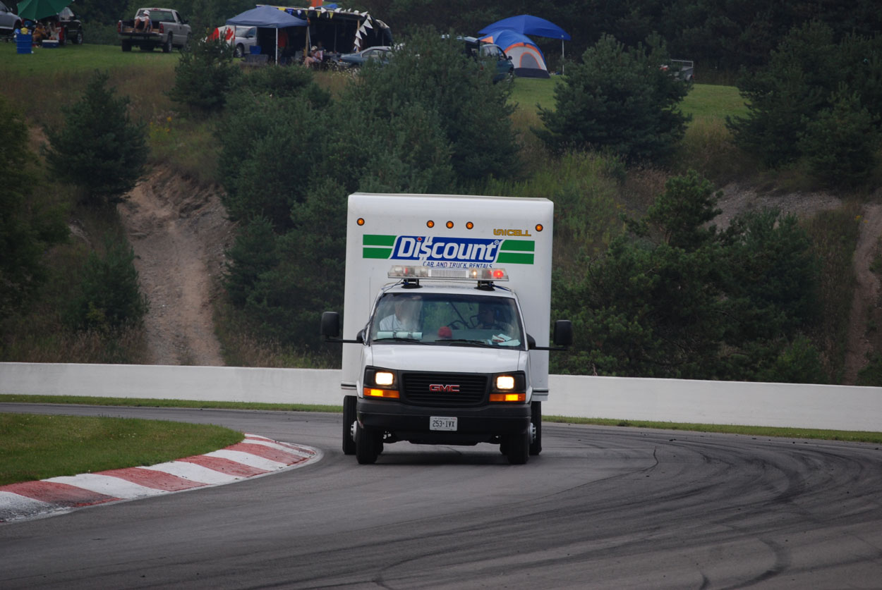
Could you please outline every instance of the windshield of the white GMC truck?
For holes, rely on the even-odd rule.
[[[514,299],[452,293],[385,293],[370,323],[370,340],[526,348]]]

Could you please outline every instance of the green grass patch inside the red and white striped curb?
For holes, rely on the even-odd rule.
[[[154,465],[242,439],[241,432],[212,424],[0,414],[0,485]]]

